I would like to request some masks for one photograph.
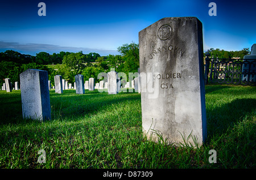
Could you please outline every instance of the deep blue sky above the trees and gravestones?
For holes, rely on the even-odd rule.
[[[39,2],[46,16],[39,16]],[[217,16],[209,16],[210,2]],[[204,50],[241,50],[256,43],[256,1],[120,0],[0,1],[0,52],[23,54],[96,52],[138,43],[138,33],[166,17],[196,16],[203,23]]]

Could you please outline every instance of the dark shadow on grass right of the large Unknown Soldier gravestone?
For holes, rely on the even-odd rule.
[[[236,99],[221,107],[207,110],[207,130],[208,138],[212,135],[221,135],[228,128],[242,121],[247,114],[255,112],[256,99],[242,98]]]

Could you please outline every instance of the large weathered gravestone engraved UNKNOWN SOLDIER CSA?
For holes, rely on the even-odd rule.
[[[207,138],[202,24],[163,18],[139,32],[143,132],[158,141]],[[190,138],[188,138],[190,137]],[[192,138],[193,137],[193,138]]]

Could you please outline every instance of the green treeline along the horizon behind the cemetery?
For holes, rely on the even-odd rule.
[[[54,84],[54,76],[58,74],[69,83],[74,83],[77,74],[84,75],[85,80],[94,78],[96,82],[99,82],[102,79],[97,79],[98,74],[109,72],[110,68],[115,68],[117,72],[124,72],[127,76],[129,72],[137,72],[139,45],[135,43],[124,44],[118,48],[118,52],[121,55],[101,56],[98,53],[83,54],[82,52],[60,52],[51,55],[40,52],[33,56],[21,54],[14,50],[6,50],[6,52],[0,53],[0,85],[4,83],[5,78],[10,78],[13,84],[19,82],[19,74],[28,68],[48,71],[49,80],[52,84]],[[209,49],[210,57],[214,58],[243,58],[249,52],[249,48],[235,52]]]

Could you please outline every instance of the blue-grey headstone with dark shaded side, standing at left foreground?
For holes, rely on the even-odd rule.
[[[51,119],[48,72],[28,69],[19,76],[23,118]]]

